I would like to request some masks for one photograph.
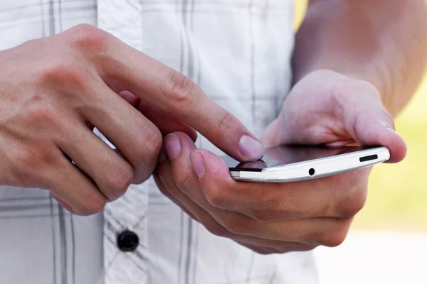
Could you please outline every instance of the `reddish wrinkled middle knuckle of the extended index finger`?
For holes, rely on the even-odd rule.
[[[168,101],[175,107],[191,107],[195,103],[196,84],[185,75],[174,71],[166,90]]]

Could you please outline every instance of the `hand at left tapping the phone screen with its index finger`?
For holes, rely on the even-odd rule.
[[[191,80],[93,26],[1,51],[0,65],[0,185],[48,189],[74,214],[100,212],[147,180],[162,131],[174,130],[140,114],[118,95],[125,90],[238,160],[263,155],[258,139]]]

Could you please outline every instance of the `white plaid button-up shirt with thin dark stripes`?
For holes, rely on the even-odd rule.
[[[256,135],[290,88],[292,0],[1,0],[0,50],[79,23],[173,67]],[[204,138],[199,148],[220,153]],[[135,251],[117,235],[139,237]],[[316,283],[312,253],[261,256],[214,236],[154,182],[77,217],[45,190],[0,187],[0,283]]]

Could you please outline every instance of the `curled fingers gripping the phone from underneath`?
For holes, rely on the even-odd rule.
[[[224,160],[197,150],[186,134],[164,143],[169,160],[154,172],[163,194],[212,234],[258,253],[337,246],[366,199],[369,169],[305,182],[237,182]]]

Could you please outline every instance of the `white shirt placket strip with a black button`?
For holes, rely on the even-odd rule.
[[[97,27],[142,50],[139,0],[97,0]],[[147,186],[132,185],[104,210],[105,284],[146,283]]]

